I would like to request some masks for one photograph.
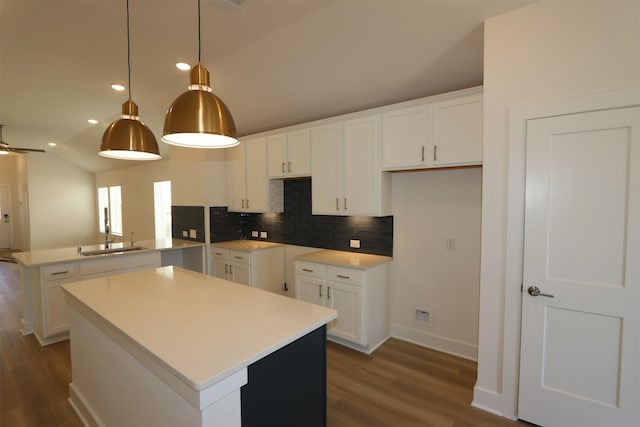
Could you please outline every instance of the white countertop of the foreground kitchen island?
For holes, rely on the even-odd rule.
[[[62,285],[68,303],[116,328],[203,390],[335,319],[335,310],[179,267]]]

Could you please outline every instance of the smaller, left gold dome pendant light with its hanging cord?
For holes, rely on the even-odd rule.
[[[127,0],[127,66],[129,99],[122,104],[122,115],[111,123],[102,135],[98,153],[123,160],[157,160],[160,150],[153,132],[140,121],[138,106],[131,100],[131,42],[129,36],[129,0]]]

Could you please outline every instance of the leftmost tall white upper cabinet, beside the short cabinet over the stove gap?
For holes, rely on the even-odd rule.
[[[241,141],[230,148],[229,210],[235,212],[282,212],[282,182],[267,178],[267,139]]]

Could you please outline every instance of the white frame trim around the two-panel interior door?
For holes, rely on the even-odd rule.
[[[501,412],[518,418],[527,120],[640,106],[640,86],[509,109]]]

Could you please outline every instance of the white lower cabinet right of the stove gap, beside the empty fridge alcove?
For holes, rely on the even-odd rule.
[[[371,353],[387,339],[390,263],[365,270],[301,260],[295,264],[296,298],[338,312],[327,329],[332,341]]]

